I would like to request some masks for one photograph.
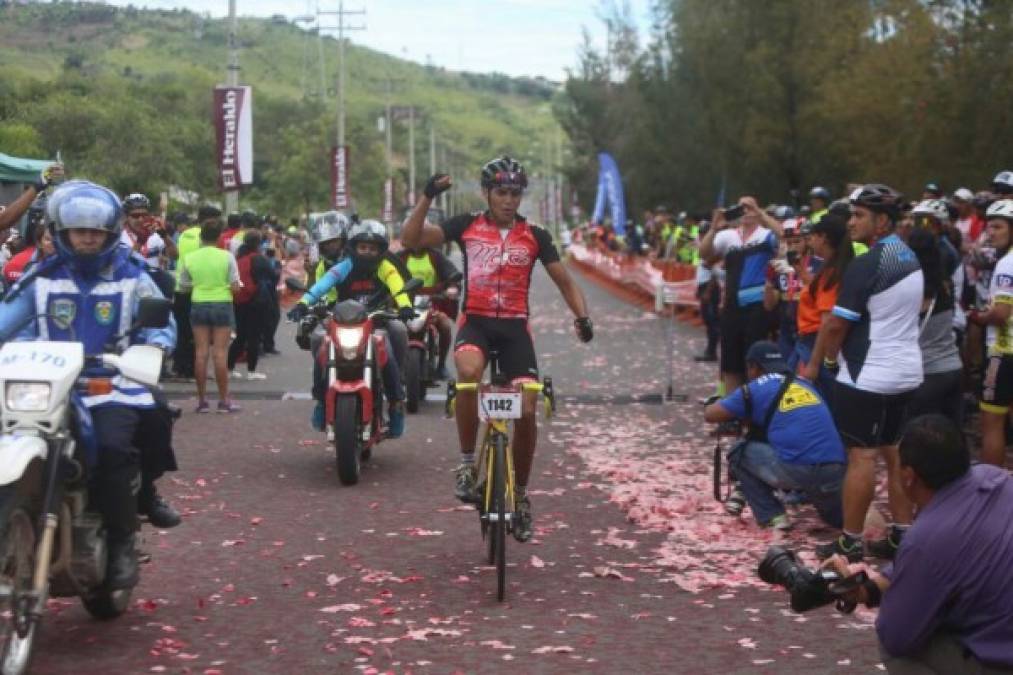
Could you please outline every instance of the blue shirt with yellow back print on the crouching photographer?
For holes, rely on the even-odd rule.
[[[753,380],[750,388],[753,401],[752,422],[763,425],[774,397],[784,383],[784,375],[768,373]],[[746,399],[742,387],[721,400],[721,407],[738,419],[746,418]],[[790,464],[825,464],[845,462],[844,444],[834,426],[830,408],[812,385],[796,378],[781,397],[770,428],[767,442],[782,461]]]

